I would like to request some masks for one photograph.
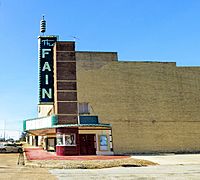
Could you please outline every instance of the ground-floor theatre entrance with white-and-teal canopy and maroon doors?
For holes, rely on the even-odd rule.
[[[97,116],[79,116],[78,124],[58,124],[57,116],[24,121],[29,142],[57,155],[110,155],[112,128],[98,122]]]

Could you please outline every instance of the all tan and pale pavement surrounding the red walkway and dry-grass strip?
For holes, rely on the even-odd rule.
[[[0,153],[0,179],[200,179],[200,155],[133,156],[158,162],[159,166],[107,169],[45,169],[17,165],[18,153]]]

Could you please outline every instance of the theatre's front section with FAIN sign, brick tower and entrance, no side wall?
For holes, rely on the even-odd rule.
[[[58,155],[113,154],[111,124],[78,100],[75,42],[40,36],[38,118],[24,121],[27,141]]]

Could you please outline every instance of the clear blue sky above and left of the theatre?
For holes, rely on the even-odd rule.
[[[37,116],[42,14],[46,34],[78,37],[76,50],[199,66],[199,9],[199,0],[0,0],[0,130]]]

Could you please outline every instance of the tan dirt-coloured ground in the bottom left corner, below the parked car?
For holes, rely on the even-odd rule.
[[[18,153],[0,153],[0,179],[6,180],[55,180],[46,168],[31,168],[17,165]]]

